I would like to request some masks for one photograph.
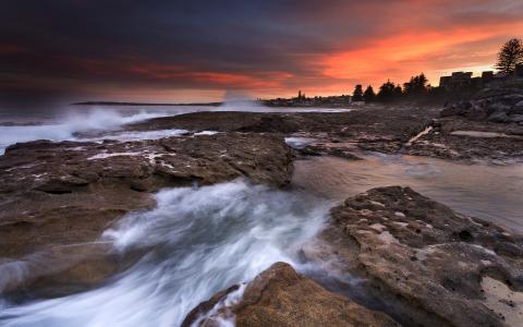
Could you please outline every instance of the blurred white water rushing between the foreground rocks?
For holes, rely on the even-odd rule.
[[[1,326],[179,326],[202,301],[252,280],[297,252],[323,227],[330,204],[245,181],[168,189],[157,208],[104,233],[124,256],[146,254],[108,284],[0,311]]]

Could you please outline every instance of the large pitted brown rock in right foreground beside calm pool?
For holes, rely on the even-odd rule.
[[[400,186],[348,198],[331,215],[320,235],[328,256],[340,274],[368,279],[368,292],[401,324],[506,326],[481,282],[494,278],[523,291],[522,237]]]

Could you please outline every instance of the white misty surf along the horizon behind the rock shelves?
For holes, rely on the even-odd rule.
[[[0,155],[9,145],[36,140],[49,141],[136,141],[157,140],[169,136],[180,136],[188,131],[184,130],[159,130],[125,132],[119,131],[123,125],[144,121],[157,117],[177,116],[200,111],[246,111],[246,112],[341,112],[351,109],[329,108],[270,108],[259,105],[256,101],[232,101],[220,107],[206,106],[172,106],[172,107],[139,107],[139,106],[99,106],[87,107],[85,110],[78,107],[68,107],[61,116],[47,117],[35,113],[34,117],[23,117],[20,124],[16,124],[16,112],[11,116],[2,113],[3,120],[10,125],[0,125]],[[42,119],[45,118],[45,119]],[[42,120],[42,121],[41,121]],[[13,122],[14,121],[14,122]],[[76,133],[82,132],[111,132],[105,133],[101,137],[77,138]],[[212,131],[205,131],[212,133]],[[200,133],[202,134],[202,133]]]

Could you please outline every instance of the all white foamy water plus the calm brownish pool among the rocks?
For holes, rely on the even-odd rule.
[[[239,109],[229,106],[207,110]],[[77,132],[111,131],[104,138],[134,141],[187,132],[119,130],[125,123],[166,114],[92,111],[48,125],[0,126],[0,140],[2,144],[37,138],[75,140]],[[294,147],[314,142],[301,137],[285,141]],[[90,159],[104,156],[108,154]],[[109,251],[123,259],[144,253],[135,265],[96,289],[69,296],[24,299],[16,303],[0,296],[0,326],[179,326],[202,301],[232,284],[252,280],[279,261],[324,282],[333,277],[349,284],[348,293],[354,296],[361,280],[352,280],[346,274],[338,276],[329,270],[328,263],[303,264],[299,251],[321,230],[329,207],[376,186],[408,185],[458,211],[523,231],[522,165],[462,165],[399,155],[362,156],[365,160],[319,157],[295,161],[294,191],[276,191],[242,180],[162,190],[156,194],[155,209],[123,217],[97,241],[108,244]],[[37,253],[0,264],[0,289],[17,280],[56,272],[61,265],[66,266],[66,255],[50,259],[45,253]],[[242,290],[224,301],[239,301]]]

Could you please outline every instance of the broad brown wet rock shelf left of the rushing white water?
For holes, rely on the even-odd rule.
[[[86,242],[96,241],[124,214],[154,207],[151,192],[235,178],[283,186],[291,173],[292,152],[275,135],[10,146],[0,157],[2,275],[32,270],[31,263],[39,258],[65,259],[68,265],[47,265],[48,271],[36,269],[39,276],[23,277],[61,274],[49,279],[99,282],[115,271],[114,258],[101,255],[107,244]],[[2,284],[0,290],[13,287]]]

